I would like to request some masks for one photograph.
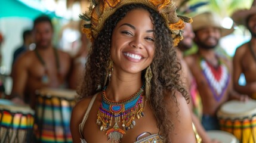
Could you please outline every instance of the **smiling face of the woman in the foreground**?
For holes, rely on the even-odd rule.
[[[112,34],[110,55],[115,70],[138,73],[152,63],[155,36],[150,13],[131,10],[116,24]]]

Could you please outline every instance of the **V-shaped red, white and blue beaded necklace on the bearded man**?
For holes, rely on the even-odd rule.
[[[201,58],[200,66],[215,100],[220,101],[229,85],[229,70],[219,58],[217,67],[212,66],[204,58]]]

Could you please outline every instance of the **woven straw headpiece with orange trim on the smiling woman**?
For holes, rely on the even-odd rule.
[[[172,32],[174,45],[183,39],[181,30],[185,26],[184,22],[192,23],[192,18],[177,15],[177,7],[171,0],[90,0],[89,11],[80,15],[80,18],[85,21],[82,32],[93,42],[103,28],[105,20],[118,8],[127,4],[144,4],[158,11]]]

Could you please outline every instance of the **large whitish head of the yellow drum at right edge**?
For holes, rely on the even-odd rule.
[[[239,118],[242,119],[246,116],[251,116],[256,113],[256,100],[249,100],[242,102],[232,100],[224,103],[217,113],[220,118]]]

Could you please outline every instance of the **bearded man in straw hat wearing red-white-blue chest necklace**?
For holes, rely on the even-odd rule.
[[[219,39],[233,32],[233,29],[222,27],[220,22],[220,17],[211,12],[193,17],[198,52],[185,57],[202,98],[202,125],[206,130],[220,129],[216,112],[221,104],[229,98],[245,99],[233,90],[231,61],[215,51]]]

